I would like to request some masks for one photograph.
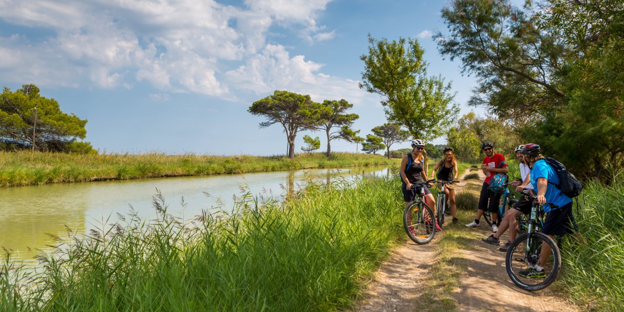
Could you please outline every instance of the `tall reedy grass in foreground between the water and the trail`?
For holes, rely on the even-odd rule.
[[[0,311],[343,310],[404,241],[397,189],[397,178],[311,185],[296,200],[263,207],[246,195],[232,217],[192,225],[167,217],[157,196],[160,218],[150,227],[130,216],[92,232],[42,259],[39,275],[5,267]]]

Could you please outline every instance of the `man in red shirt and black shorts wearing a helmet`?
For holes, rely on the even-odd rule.
[[[490,191],[488,187],[488,183],[492,180],[492,177],[496,173],[507,173],[509,168],[507,168],[507,163],[505,163],[505,157],[502,154],[494,153],[494,144],[492,142],[483,142],[481,144],[481,150],[485,153],[485,157],[483,158],[483,163],[481,163],[481,170],[485,173],[485,181],[483,182],[483,186],[481,187],[481,194],[479,195],[479,207],[477,209],[477,216],[475,217],[473,222],[470,222],[466,225],[466,227],[479,228],[479,220],[485,210],[489,210],[492,214],[492,221],[498,220],[499,216],[499,202],[500,202],[500,194],[494,193]],[[498,232],[498,227],[496,226],[496,222],[492,224],[492,232]]]

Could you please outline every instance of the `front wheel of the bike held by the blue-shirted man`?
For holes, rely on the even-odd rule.
[[[534,269],[532,269],[534,272],[527,271],[537,264],[544,244],[551,248],[544,264],[544,273],[535,274]],[[559,274],[561,251],[550,236],[541,232],[525,233],[516,238],[509,246],[507,256],[505,256],[505,266],[507,266],[509,278],[515,285],[529,291],[542,290],[555,281]]]

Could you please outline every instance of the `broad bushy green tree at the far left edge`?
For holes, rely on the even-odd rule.
[[[0,141],[6,145],[32,147],[34,144],[40,150],[62,151],[76,138],[85,138],[86,124],[86,119],[62,112],[55,99],[42,97],[34,84],[24,84],[15,92],[4,87],[0,94]]]

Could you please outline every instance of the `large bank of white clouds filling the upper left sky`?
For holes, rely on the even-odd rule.
[[[0,19],[51,35],[0,37],[0,79],[106,89],[147,81],[225,99],[238,89],[329,83],[336,79],[318,72],[321,64],[290,57],[266,37],[278,23],[311,42],[333,39],[315,20],[330,1],[4,0]]]

